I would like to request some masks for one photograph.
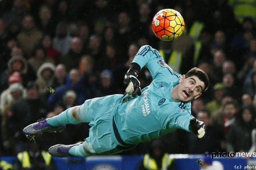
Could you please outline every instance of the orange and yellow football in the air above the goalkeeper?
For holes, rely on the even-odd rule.
[[[160,10],[152,20],[152,30],[161,40],[171,41],[183,33],[185,22],[181,14],[173,9]]]

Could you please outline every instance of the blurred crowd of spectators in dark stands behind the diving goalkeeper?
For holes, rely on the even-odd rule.
[[[124,75],[143,45],[159,50],[166,63],[178,51],[182,58],[176,71],[199,67],[210,78],[208,91],[191,102],[206,136],[199,140],[177,130],[162,137],[165,151],[249,151],[256,145],[251,135],[256,128],[256,27],[254,16],[238,17],[234,5],[227,0],[0,1],[1,155],[29,148],[22,134],[26,125],[86,99],[123,94]],[[163,8],[179,11],[185,20],[186,30],[176,40],[161,41],[152,32],[152,18]],[[141,88],[150,84],[147,68],[139,80]],[[68,125],[35,140],[47,150],[83,141],[88,129],[87,123]],[[148,146],[140,143],[123,154],[145,154]]]

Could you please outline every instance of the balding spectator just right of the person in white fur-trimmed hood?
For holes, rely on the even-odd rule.
[[[58,64],[54,70],[54,79],[51,87],[54,89],[60,85],[65,84],[66,77],[67,77],[66,66],[64,64]]]

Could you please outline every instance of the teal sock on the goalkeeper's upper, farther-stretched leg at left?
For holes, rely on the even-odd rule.
[[[52,126],[59,126],[62,124],[77,124],[79,121],[75,120],[71,114],[71,111],[74,107],[70,107],[67,110],[63,111],[57,116],[51,117],[47,120],[47,123]]]

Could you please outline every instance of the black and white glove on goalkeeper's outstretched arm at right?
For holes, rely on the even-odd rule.
[[[205,135],[205,125],[202,121],[196,118],[191,118],[189,121],[189,130],[197,135],[198,138],[202,138]]]

